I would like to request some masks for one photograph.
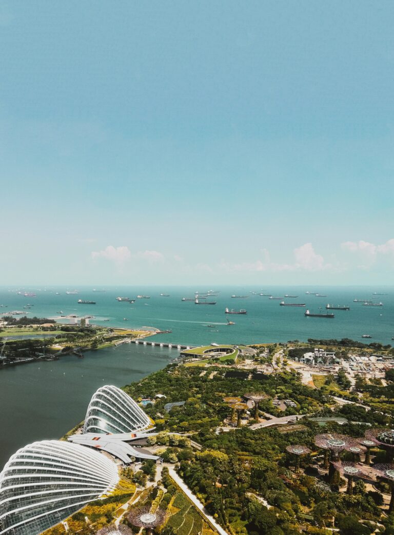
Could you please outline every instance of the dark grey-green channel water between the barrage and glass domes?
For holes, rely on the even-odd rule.
[[[179,353],[125,344],[84,355],[0,370],[0,471],[18,448],[35,440],[58,439],[81,422],[100,386],[138,381]]]

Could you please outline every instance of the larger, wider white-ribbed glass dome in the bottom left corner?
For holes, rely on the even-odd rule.
[[[29,444],[0,473],[0,534],[37,535],[118,479],[116,464],[93,449],[57,440]]]

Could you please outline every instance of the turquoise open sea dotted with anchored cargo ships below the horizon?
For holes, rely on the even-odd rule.
[[[362,334],[370,334],[371,341],[391,343],[394,337],[394,287],[222,287],[210,300],[216,305],[195,305],[193,301],[182,302],[181,297],[193,297],[195,291],[206,292],[210,288],[201,287],[118,287],[107,288],[106,292],[93,292],[92,288],[77,288],[78,295],[66,295],[65,288],[24,288],[36,297],[24,297],[8,288],[0,289],[0,312],[18,309],[24,304],[34,303],[29,315],[58,316],[64,314],[94,315],[93,323],[118,327],[154,326],[161,330],[172,330],[170,334],[155,337],[158,341],[201,345],[207,342],[254,343],[287,340],[307,340],[308,338],[352,338],[361,340]],[[312,312],[325,311],[325,305],[346,304],[350,311],[335,311],[334,319],[306,318],[305,309],[280,307],[279,301],[249,292],[272,293],[274,296],[298,295],[297,299],[286,302],[306,303]],[[315,292],[327,297],[306,295]],[[56,295],[59,292],[60,295]],[[388,295],[373,295],[374,292]],[[161,297],[168,293],[169,297]],[[137,299],[134,304],[117,302],[117,296],[134,298],[149,295],[150,299]],[[248,295],[248,299],[231,299],[231,295]],[[383,307],[363,307],[353,303],[353,299],[382,301]],[[78,299],[96,301],[95,305],[78,304]],[[226,325],[225,307],[245,308],[246,316],[231,316],[236,325]],[[322,310],[320,310],[322,308]],[[123,318],[128,318],[124,321]],[[104,319],[109,321],[104,322]],[[215,328],[207,327],[215,325]],[[394,342],[393,342],[394,344]]]

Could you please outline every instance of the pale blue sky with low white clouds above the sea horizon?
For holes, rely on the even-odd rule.
[[[3,284],[392,284],[394,4],[0,2]]]

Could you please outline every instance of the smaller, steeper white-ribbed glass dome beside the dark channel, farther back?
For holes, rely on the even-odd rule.
[[[132,433],[151,426],[145,412],[123,390],[102,386],[92,396],[84,433]]]

